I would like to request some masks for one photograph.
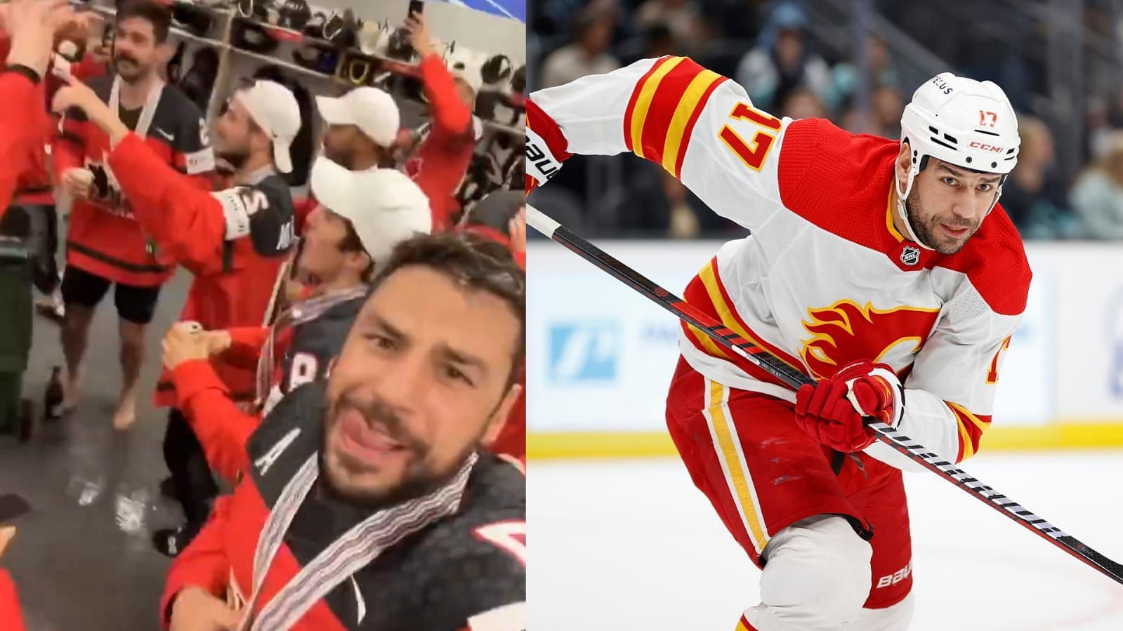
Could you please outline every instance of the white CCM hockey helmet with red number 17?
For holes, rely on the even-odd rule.
[[[901,116],[901,141],[909,141],[912,167],[904,191],[897,188],[897,213],[912,240],[931,249],[916,238],[909,222],[905,199],[912,190],[913,179],[924,167],[926,158],[935,157],[949,164],[997,173],[998,183],[994,203],[1002,195],[1006,175],[1017,164],[1021,138],[1017,117],[1010,99],[994,82],[975,81],[950,72],[935,75],[916,89],[912,102]],[[994,204],[987,214],[994,210]]]

